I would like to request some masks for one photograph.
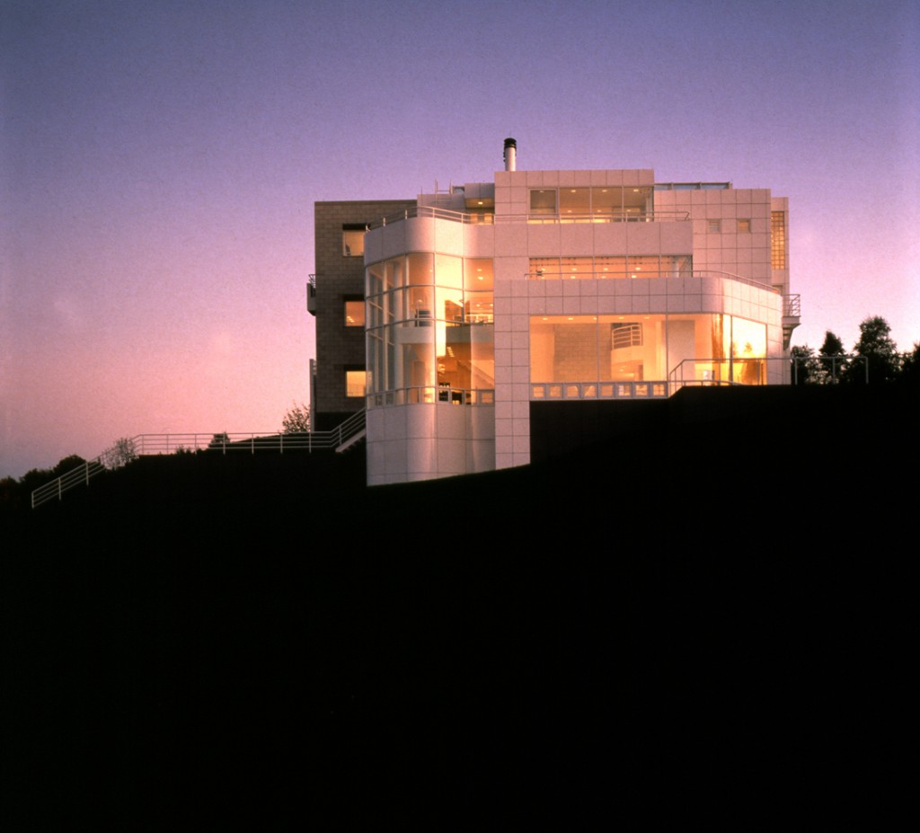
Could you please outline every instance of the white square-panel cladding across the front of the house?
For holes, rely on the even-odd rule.
[[[721,313],[763,322],[768,356],[782,354],[780,296],[719,276],[728,272],[748,280],[770,282],[769,191],[655,191],[654,205],[659,215],[645,222],[559,223],[544,217],[534,218],[542,222],[527,219],[529,191],[534,188],[629,189],[653,183],[654,172],[650,169],[500,171],[495,176],[494,225],[419,217],[369,234],[365,262],[425,251],[493,259],[496,379],[495,406],[438,402],[379,409],[403,411],[403,416],[393,422],[379,420],[374,411],[369,412],[369,483],[425,480],[529,462],[530,316]],[[467,186],[466,196],[475,195],[476,188],[476,184]],[[678,219],[683,212],[691,219]],[[710,221],[716,220],[719,223],[713,231]],[[697,276],[528,279],[530,258],[658,254],[692,255]],[[710,273],[700,277],[698,273],[704,271]],[[782,278],[786,283],[788,272]],[[768,364],[771,383],[782,380],[780,365]],[[419,415],[410,416],[415,411]]]

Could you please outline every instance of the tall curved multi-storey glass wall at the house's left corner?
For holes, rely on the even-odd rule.
[[[490,259],[401,255],[366,283],[370,405],[460,404],[495,387]]]

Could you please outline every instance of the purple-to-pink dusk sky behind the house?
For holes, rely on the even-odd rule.
[[[795,344],[920,340],[920,3],[0,0],[0,477],[308,400],[313,203],[518,169],[789,198]]]

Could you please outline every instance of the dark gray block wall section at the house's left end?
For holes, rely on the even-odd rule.
[[[376,223],[414,206],[415,200],[316,202],[316,381],[313,413],[317,429],[334,427],[357,411],[360,399],[345,396],[346,370],[364,367],[364,330],[345,326],[345,299],[364,296],[364,259],[342,253],[342,226]],[[324,414],[328,415],[324,418]]]

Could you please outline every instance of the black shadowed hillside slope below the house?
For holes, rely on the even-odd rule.
[[[360,454],[94,481],[4,552],[7,812],[884,812],[905,781],[918,443],[912,402],[854,396],[684,403],[663,434],[385,489]]]

